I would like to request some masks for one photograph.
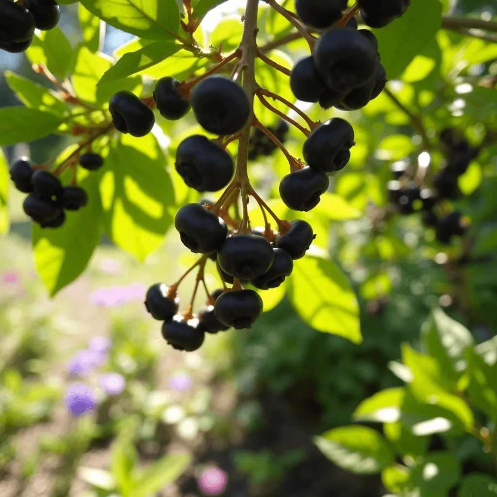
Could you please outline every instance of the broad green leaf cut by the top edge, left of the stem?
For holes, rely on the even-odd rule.
[[[175,0],[82,0],[81,3],[111,26],[135,36],[168,39],[179,29]]]

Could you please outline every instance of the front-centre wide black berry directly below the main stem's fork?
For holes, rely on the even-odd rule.
[[[274,259],[271,244],[255,235],[229,237],[218,250],[223,271],[235,278],[251,280],[265,273]]]

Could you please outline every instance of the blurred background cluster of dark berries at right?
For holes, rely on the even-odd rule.
[[[433,189],[419,188],[411,179],[413,168],[409,163],[399,161],[391,167],[395,180],[387,184],[389,200],[401,214],[421,211],[422,222],[435,229],[436,238],[442,244],[449,244],[452,237],[463,236],[466,223],[460,212],[450,212],[439,218],[437,206],[443,200],[455,200],[460,196],[458,177],[468,169],[470,162],[479,154],[479,149],[470,147],[467,140],[457,136],[454,130],[440,133],[441,149],[446,158],[441,161],[442,169],[433,177]]]

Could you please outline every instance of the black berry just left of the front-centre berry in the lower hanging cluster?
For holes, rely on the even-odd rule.
[[[228,236],[226,223],[200,204],[186,204],[176,213],[174,226],[181,242],[194,253],[218,250]]]

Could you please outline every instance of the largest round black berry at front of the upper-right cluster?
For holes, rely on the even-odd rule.
[[[362,34],[348,28],[330,29],[316,44],[314,60],[326,84],[335,91],[351,91],[374,75],[378,54]]]

